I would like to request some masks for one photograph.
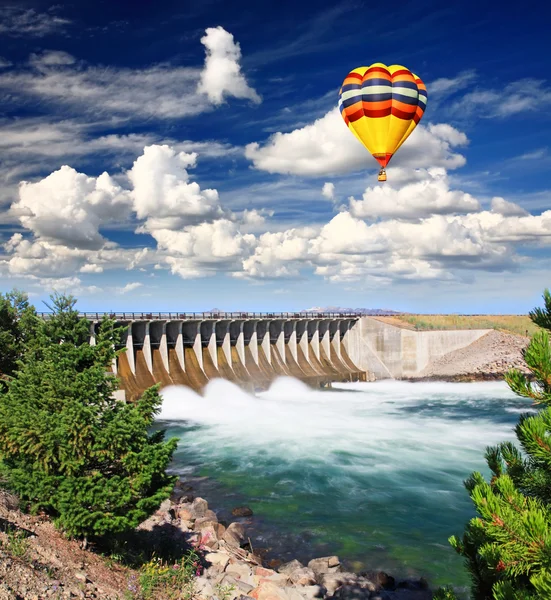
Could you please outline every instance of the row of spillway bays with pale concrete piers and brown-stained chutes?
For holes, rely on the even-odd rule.
[[[93,344],[101,317],[91,321]],[[200,391],[223,378],[254,391],[281,376],[312,386],[365,381],[352,342],[359,315],[297,313],[116,313],[125,328],[113,371],[128,400],[160,383]],[[119,348],[120,349],[120,348]]]

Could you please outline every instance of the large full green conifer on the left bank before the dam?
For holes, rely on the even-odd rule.
[[[0,475],[70,536],[128,531],[169,496],[176,441],[148,432],[161,403],[157,386],[134,404],[114,399],[114,322],[101,323],[92,346],[75,300],[52,302],[39,343],[0,396]]]

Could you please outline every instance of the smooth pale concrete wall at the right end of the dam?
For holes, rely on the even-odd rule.
[[[350,331],[350,357],[368,373],[368,379],[412,377],[431,361],[472,344],[489,331],[412,331],[362,317]]]

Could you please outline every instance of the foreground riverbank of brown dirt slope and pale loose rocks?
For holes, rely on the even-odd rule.
[[[235,514],[250,512],[242,507]],[[243,524],[219,522],[207,501],[190,495],[184,483],[177,484],[171,499],[138,530],[149,536],[148,543],[197,552],[197,600],[432,598],[423,579],[396,581],[383,572],[346,572],[337,556],[268,568],[251,547]],[[16,531],[24,532],[24,545],[14,543]],[[142,597],[137,580],[136,571],[64,539],[47,518],[22,514],[13,498],[0,492],[0,600],[137,600]]]

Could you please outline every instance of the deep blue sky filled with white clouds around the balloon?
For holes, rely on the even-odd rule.
[[[522,313],[551,274],[551,9],[0,2],[0,291],[82,310]],[[403,64],[377,163],[336,110]]]

